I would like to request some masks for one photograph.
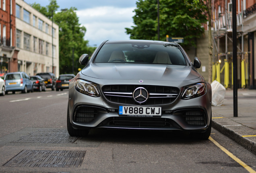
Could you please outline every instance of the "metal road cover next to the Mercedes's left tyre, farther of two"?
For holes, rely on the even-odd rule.
[[[66,129],[39,129],[22,137],[17,143],[74,143],[78,137],[71,137]]]

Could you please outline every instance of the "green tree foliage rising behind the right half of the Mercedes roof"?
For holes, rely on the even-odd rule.
[[[135,26],[125,28],[131,39],[157,40],[157,0],[138,0],[133,16]],[[199,0],[159,0],[160,40],[184,37],[182,46],[195,46],[203,33],[202,23],[207,21]]]

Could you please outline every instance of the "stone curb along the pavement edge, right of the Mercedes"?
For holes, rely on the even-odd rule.
[[[225,123],[227,123],[227,121],[232,121],[232,120],[225,118]],[[236,123],[236,122],[232,121],[231,123]],[[213,119],[212,127],[256,155],[256,142],[248,139],[247,137],[242,137],[242,135],[239,135],[239,132],[233,130],[232,128],[229,128],[229,127],[232,127],[232,125],[225,126],[225,125],[222,125],[221,122],[219,123],[217,121],[214,121]],[[240,130],[243,129],[243,131],[255,131],[254,129],[251,129],[241,124],[239,124],[239,129]]]

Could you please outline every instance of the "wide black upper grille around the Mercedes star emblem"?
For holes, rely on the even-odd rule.
[[[132,95],[138,87],[145,88],[149,93],[149,99],[145,103],[137,103]],[[102,92],[108,101],[130,105],[161,105],[175,101],[180,90],[176,87],[155,85],[105,85]]]

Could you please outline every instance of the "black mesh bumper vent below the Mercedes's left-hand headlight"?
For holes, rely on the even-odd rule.
[[[97,115],[97,110],[91,107],[77,107],[74,113],[74,122],[91,122]]]

